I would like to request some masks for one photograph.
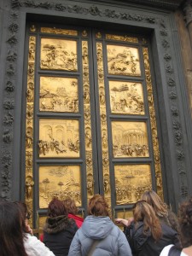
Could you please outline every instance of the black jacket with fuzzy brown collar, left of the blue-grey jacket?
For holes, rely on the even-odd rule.
[[[47,218],[44,226],[44,244],[55,256],[68,255],[69,247],[77,230],[78,226],[72,218],[67,218],[67,216]]]

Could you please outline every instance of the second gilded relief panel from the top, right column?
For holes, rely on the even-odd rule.
[[[141,83],[109,81],[112,113],[144,114]]]

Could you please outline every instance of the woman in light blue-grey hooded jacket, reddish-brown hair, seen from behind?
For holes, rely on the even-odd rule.
[[[109,218],[108,203],[102,195],[90,199],[88,214],[73,238],[68,256],[132,255],[124,233]]]

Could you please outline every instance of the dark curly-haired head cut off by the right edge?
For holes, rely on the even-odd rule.
[[[181,204],[178,211],[183,247],[192,245],[192,197]]]

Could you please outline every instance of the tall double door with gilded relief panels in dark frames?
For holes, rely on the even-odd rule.
[[[54,196],[73,197],[84,214],[100,193],[113,217],[146,189],[162,196],[148,39],[30,25],[27,48],[26,203],[33,220],[36,212],[43,219]]]

